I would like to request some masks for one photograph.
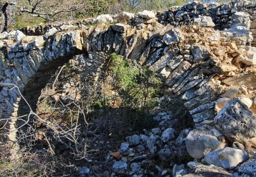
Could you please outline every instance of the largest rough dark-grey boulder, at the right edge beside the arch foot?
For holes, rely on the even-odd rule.
[[[231,142],[256,136],[256,116],[241,99],[231,99],[214,118],[216,127]]]

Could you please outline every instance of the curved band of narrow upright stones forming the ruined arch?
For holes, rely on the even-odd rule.
[[[208,31],[208,28],[204,28]],[[211,29],[211,28],[209,28]],[[204,120],[213,120],[215,101],[222,92],[214,82],[214,74],[223,72],[211,58],[207,48],[193,44],[186,39],[186,33],[196,31],[184,27],[183,31],[170,26],[149,29],[134,29],[126,25],[110,27],[86,27],[81,30],[58,32],[51,36],[35,37],[33,42],[12,46],[1,70],[5,74],[0,91],[0,116],[9,118],[9,140],[16,141],[17,117],[27,111],[15,84],[27,99],[32,91],[40,90],[46,84],[48,70],[55,70],[72,57],[88,52],[116,52],[127,59],[134,59],[141,65],[147,65],[160,74],[170,95],[184,100],[184,108],[193,116],[194,123],[200,125]],[[210,34],[216,34],[212,29]],[[211,39],[218,42],[217,39]],[[35,106],[36,101],[33,102]]]

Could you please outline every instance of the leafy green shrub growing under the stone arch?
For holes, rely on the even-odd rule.
[[[160,78],[147,67],[132,64],[115,53],[110,55],[113,87],[122,99],[121,106],[150,110],[160,88]]]

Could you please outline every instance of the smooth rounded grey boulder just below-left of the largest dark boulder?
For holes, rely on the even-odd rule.
[[[218,141],[214,133],[203,128],[190,131],[185,143],[188,154],[195,159],[200,159],[207,152],[221,147],[221,142]]]

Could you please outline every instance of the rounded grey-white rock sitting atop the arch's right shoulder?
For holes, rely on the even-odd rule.
[[[184,40],[184,36],[182,35],[182,31],[180,31],[180,29],[174,28],[167,31],[162,40],[165,42],[165,44],[171,45]]]

